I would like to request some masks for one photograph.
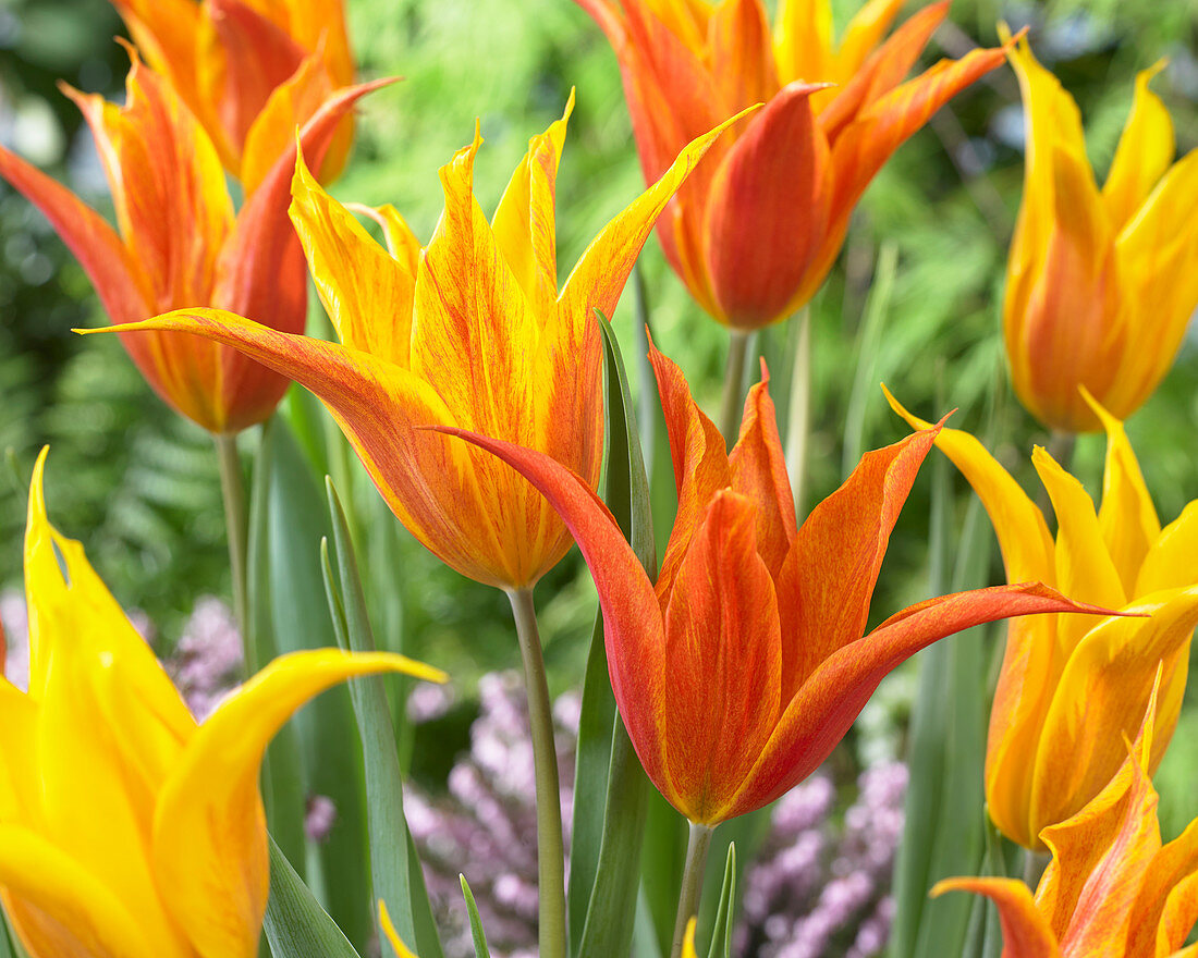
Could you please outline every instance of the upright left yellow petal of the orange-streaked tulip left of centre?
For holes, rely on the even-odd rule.
[[[407,368],[416,273],[383,250],[296,158],[291,222],[345,346]]]

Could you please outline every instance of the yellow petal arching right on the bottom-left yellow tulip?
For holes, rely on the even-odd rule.
[[[258,776],[267,742],[313,696],[377,672],[444,681],[389,653],[292,653],[226,698],[188,744],[158,799],[153,861],[171,915],[204,958],[258,953],[268,886]]]

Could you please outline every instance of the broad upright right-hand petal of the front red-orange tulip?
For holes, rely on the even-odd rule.
[[[860,639],[890,530],[934,438],[933,426],[866,453],[799,529],[779,582],[783,702]]]

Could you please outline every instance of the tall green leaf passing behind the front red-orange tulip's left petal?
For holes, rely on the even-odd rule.
[[[604,340],[607,507],[641,564],[657,572],[648,479],[619,345],[598,313]],[[575,765],[568,910],[576,956],[627,954],[636,910],[637,860],[649,784],[616,714],[607,675],[603,614],[597,613],[582,686]]]

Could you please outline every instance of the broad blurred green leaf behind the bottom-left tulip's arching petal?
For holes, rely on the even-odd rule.
[[[329,533],[325,497],[286,423],[276,420],[272,432],[266,552],[274,641],[279,653],[335,645],[320,562],[320,542]],[[365,796],[350,692],[329,690],[297,713],[292,724],[301,788],[285,798],[294,808],[311,795],[326,795],[337,807],[323,842],[308,844],[307,881],[350,940],[365,947],[375,909],[364,867]],[[276,805],[278,800],[276,795]]]

